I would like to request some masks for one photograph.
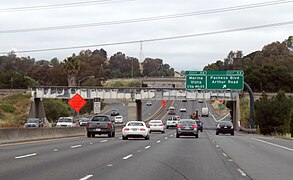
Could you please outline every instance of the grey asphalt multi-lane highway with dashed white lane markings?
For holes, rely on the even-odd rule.
[[[160,107],[143,107],[145,113]],[[170,101],[180,116],[206,103]],[[119,107],[123,105],[118,105]],[[119,108],[118,107],[118,108]],[[180,113],[180,107],[187,112]],[[168,115],[164,111],[165,120]],[[147,116],[147,115],[145,115]],[[183,117],[182,117],[183,118]],[[201,118],[215,127],[211,116]],[[292,141],[236,133],[175,138],[175,129],[152,133],[150,140],[67,138],[0,146],[0,179],[292,179]]]

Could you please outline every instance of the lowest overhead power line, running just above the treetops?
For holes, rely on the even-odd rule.
[[[231,33],[231,32],[238,32],[238,31],[246,31],[246,30],[252,30],[252,29],[270,28],[270,27],[277,27],[277,26],[284,26],[284,25],[291,25],[291,24],[293,24],[293,21],[265,24],[265,25],[259,25],[259,26],[250,26],[250,27],[243,27],[243,28],[235,28],[235,29],[227,29],[227,30],[220,30],[220,31],[212,31],[212,32],[205,32],[205,33],[198,33],[198,34],[187,34],[187,35],[180,35],[180,36],[170,36],[170,37],[144,39],[144,40],[102,43],[102,44],[94,44],[94,45],[80,45],[80,46],[58,47],[58,48],[20,50],[20,51],[14,51],[14,52],[15,53],[29,53],[29,52],[33,53],[33,52],[44,52],[44,51],[58,51],[58,50],[68,50],[68,49],[92,48],[92,47],[98,47],[98,46],[113,46],[113,45],[134,44],[134,43],[142,43],[142,42],[165,41],[165,40],[174,40],[174,39],[183,39],[183,38],[190,38],[190,37],[199,37],[199,36]],[[8,54],[8,53],[9,52],[0,52],[0,54]]]

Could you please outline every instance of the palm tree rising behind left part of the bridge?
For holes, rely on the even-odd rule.
[[[67,74],[68,86],[77,86],[76,77],[80,70],[80,61],[73,54],[64,60],[64,72]]]

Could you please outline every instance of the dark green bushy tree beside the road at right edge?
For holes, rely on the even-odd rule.
[[[286,97],[284,91],[279,91],[276,97],[268,99],[263,92],[255,103],[255,120],[262,134],[289,132],[292,99]]]

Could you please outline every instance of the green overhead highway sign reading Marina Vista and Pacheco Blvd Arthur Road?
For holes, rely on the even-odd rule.
[[[243,90],[243,71],[186,71],[188,90]]]

